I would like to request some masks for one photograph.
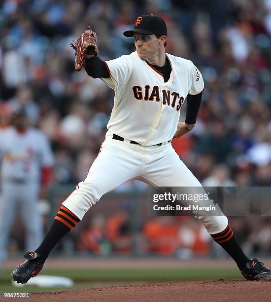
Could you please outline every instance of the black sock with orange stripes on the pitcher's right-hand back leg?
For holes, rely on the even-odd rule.
[[[243,270],[249,259],[242,251],[231,227],[228,225],[222,232],[211,236],[233,258],[239,269]]]

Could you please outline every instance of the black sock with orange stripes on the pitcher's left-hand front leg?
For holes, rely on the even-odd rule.
[[[35,250],[41,255],[43,260],[46,260],[52,249],[56,244],[75,227],[80,221],[71,211],[66,207],[61,206],[54,222],[49,228],[40,246]]]

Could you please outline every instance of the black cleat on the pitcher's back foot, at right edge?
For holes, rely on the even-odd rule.
[[[271,281],[271,270],[256,258],[248,261],[240,272],[246,280]]]

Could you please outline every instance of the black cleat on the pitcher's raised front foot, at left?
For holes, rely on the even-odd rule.
[[[27,259],[20,265],[16,266],[11,276],[17,283],[27,283],[27,281],[35,277],[42,269],[44,260],[40,259],[40,255],[35,252],[27,252],[24,257]]]

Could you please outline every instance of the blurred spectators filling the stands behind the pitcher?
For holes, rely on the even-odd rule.
[[[53,184],[84,179],[104,139],[114,91],[100,79],[74,70],[69,44],[91,25],[103,60],[129,54],[135,49],[134,39],[123,32],[142,14],[164,18],[169,33],[166,52],[192,60],[203,75],[197,124],[172,143],[181,159],[204,186],[271,186],[271,0],[3,0],[1,127],[14,110],[24,107],[31,123],[51,142],[56,158]],[[184,115],[185,105],[182,120]],[[95,229],[95,236],[101,237],[101,220],[94,219],[84,231]],[[155,233],[166,229],[163,224],[168,224],[166,218],[142,228],[145,238],[152,238],[146,250],[152,251]],[[176,219],[169,233],[182,232],[187,238],[182,240],[189,241],[185,227],[200,226],[190,219],[180,227],[183,224]],[[240,224],[247,232],[248,220]],[[260,231],[271,242],[267,222],[247,238],[256,242]],[[103,241],[109,240],[110,249],[111,232]],[[208,251],[210,243],[202,230],[194,233],[200,242],[206,241],[202,246]],[[81,234],[86,242],[82,239],[77,248],[92,246],[95,251],[96,243],[86,234]]]

